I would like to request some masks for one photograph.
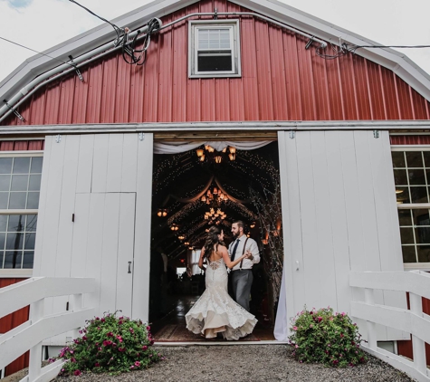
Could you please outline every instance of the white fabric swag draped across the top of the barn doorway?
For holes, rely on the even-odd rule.
[[[223,151],[224,148],[232,146],[238,150],[253,150],[255,148],[263,148],[263,146],[272,143],[272,140],[250,140],[250,141],[201,141],[201,142],[177,142],[177,141],[162,141],[154,142],[154,154],[177,154],[185,151],[198,148],[202,145],[208,145],[215,148],[216,151]]]

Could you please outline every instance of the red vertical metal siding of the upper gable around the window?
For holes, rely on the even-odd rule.
[[[204,0],[163,17],[248,11]],[[208,17],[205,17],[208,18]],[[144,66],[112,53],[37,91],[25,124],[234,120],[429,119],[428,102],[397,75],[352,53],[324,60],[307,38],[241,18],[242,78],[188,79],[186,21],[153,36]],[[327,51],[327,53],[332,53]],[[5,124],[22,124],[14,116]]]

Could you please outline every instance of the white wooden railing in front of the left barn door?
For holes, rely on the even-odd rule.
[[[47,382],[57,376],[62,360],[41,368],[42,342],[81,327],[94,315],[82,307],[83,293],[95,290],[94,279],[33,277],[0,289],[0,318],[30,305],[30,320],[0,336],[0,368],[30,350],[28,375],[21,382]],[[72,295],[70,310],[51,315],[43,313],[44,299]]]

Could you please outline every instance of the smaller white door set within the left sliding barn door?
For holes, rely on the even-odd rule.
[[[121,310],[131,316],[135,210],[135,193],[76,195],[72,274],[80,267],[85,277],[100,281],[88,301],[99,315]]]

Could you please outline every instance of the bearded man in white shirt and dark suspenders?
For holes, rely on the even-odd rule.
[[[244,234],[244,222],[238,220],[232,224],[234,241],[228,246],[230,261],[248,254],[248,258],[238,263],[232,269],[231,282],[233,299],[245,310],[249,311],[249,297],[253,285],[253,264],[260,263],[260,253],[255,240]]]

